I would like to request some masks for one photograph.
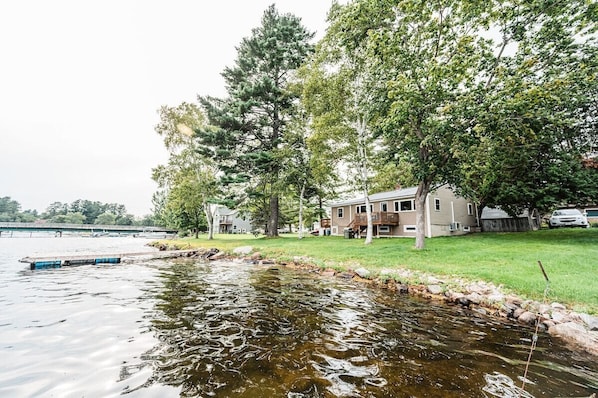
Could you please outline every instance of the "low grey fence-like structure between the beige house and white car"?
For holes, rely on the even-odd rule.
[[[484,232],[537,231],[540,229],[541,218],[537,210],[530,213],[526,209],[517,217],[512,217],[500,208],[484,207],[480,224]]]

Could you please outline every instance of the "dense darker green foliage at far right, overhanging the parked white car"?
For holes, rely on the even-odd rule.
[[[489,79],[461,103],[466,149],[455,152],[462,192],[481,206],[547,211],[598,196],[596,9],[583,1],[501,9],[502,46]],[[455,119],[453,119],[455,120]]]

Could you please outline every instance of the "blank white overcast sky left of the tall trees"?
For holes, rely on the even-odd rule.
[[[150,214],[158,108],[223,96],[220,72],[272,3],[323,35],[330,0],[0,2],[0,197]]]

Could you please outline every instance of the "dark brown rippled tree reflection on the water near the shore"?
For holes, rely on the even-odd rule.
[[[160,341],[144,356],[184,397],[589,396],[591,358],[532,330],[284,268],[190,261],[148,285]]]

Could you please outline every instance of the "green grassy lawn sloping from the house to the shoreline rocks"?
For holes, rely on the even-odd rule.
[[[548,299],[582,312],[598,313],[598,228],[541,230],[529,233],[483,233],[433,238],[426,249],[413,249],[412,239],[363,240],[295,235],[280,239],[253,235],[217,235],[208,241],[182,239],[182,245],[230,251],[252,246],[264,256],[291,260],[306,256],[322,267],[374,273],[407,268],[438,276],[484,280],[502,285],[522,297],[542,300],[546,286],[538,261],[550,278]]]

